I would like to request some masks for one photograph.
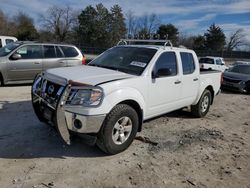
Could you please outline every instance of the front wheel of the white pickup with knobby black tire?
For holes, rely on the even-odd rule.
[[[133,142],[138,126],[139,118],[135,109],[119,104],[104,120],[97,137],[97,146],[107,154],[120,153]]]

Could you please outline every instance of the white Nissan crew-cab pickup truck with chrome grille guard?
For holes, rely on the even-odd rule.
[[[87,66],[41,73],[32,86],[37,117],[55,125],[68,144],[73,133],[91,135],[100,149],[116,154],[147,119],[188,106],[205,116],[221,72],[200,73],[194,51],[166,44],[118,45]]]

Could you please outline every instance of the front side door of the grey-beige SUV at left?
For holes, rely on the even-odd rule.
[[[25,45],[17,49],[13,54],[15,53],[20,54],[21,59],[9,57],[8,80],[33,80],[36,74],[42,71],[41,45]]]

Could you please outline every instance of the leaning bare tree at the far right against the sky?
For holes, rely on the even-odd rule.
[[[238,29],[229,36],[229,41],[227,43],[227,50],[232,51],[234,48],[243,46],[245,44],[245,36],[243,29]]]

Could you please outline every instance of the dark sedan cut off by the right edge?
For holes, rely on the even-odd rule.
[[[250,94],[250,64],[239,64],[225,71],[222,89]]]

